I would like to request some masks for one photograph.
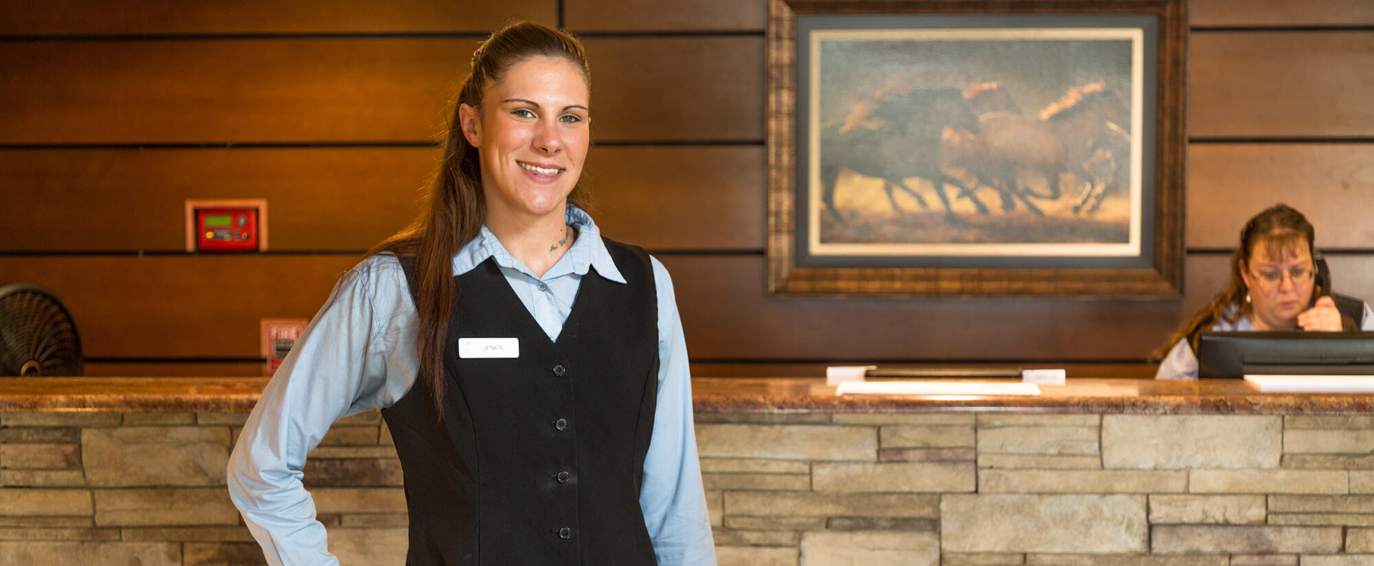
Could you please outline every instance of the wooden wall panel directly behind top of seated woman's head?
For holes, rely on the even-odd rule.
[[[1301,210],[1322,249],[1374,247],[1374,144],[1189,146],[1189,247],[1235,247],[1275,202]]]

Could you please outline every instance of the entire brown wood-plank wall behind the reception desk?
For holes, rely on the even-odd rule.
[[[1241,224],[1274,202],[1316,224],[1337,291],[1374,298],[1371,5],[1190,4],[1184,295],[1080,301],[769,297],[763,0],[12,1],[0,283],[56,291],[92,375],[256,374],[258,320],[311,317],[414,217],[474,47],[533,18],[584,33],[592,212],[669,268],[698,374],[1149,376],[1145,356],[1224,283]],[[191,198],[267,199],[272,251],[181,253]]]

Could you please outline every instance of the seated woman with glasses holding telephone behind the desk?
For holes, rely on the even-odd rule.
[[[1330,276],[1319,269],[1315,229],[1303,213],[1274,205],[1245,223],[1231,256],[1231,278],[1202,310],[1153,353],[1162,359],[1156,379],[1197,379],[1197,338],[1212,331],[1374,330],[1369,304],[1342,315],[1330,297]]]

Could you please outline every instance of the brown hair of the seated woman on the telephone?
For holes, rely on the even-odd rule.
[[[1250,290],[1245,287],[1245,279],[1241,278],[1241,264],[1249,264],[1253,260],[1256,245],[1264,242],[1264,247],[1271,251],[1307,246],[1308,257],[1316,258],[1316,247],[1312,243],[1315,236],[1316,231],[1312,228],[1312,223],[1307,221],[1303,213],[1282,202],[1254,214],[1250,221],[1245,223],[1245,228],[1241,228],[1241,247],[1231,254],[1231,279],[1226,287],[1216,297],[1212,297],[1212,302],[1208,302],[1202,310],[1193,315],[1191,320],[1175,330],[1162,346],[1151,352],[1150,360],[1162,360],[1180,339],[1187,339],[1197,350],[1197,343],[1191,342],[1200,330],[1210,328],[1217,320],[1234,324],[1250,313],[1250,302],[1245,299]]]

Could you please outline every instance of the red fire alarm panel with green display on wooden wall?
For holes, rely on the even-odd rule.
[[[267,251],[267,201],[185,202],[187,251]]]

